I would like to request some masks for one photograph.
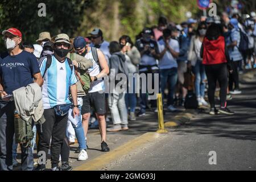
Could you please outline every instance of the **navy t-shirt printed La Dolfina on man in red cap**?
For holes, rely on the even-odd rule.
[[[3,90],[12,94],[14,90],[32,84],[36,73],[40,72],[38,60],[30,52],[22,51],[18,55],[1,55],[0,77]]]

